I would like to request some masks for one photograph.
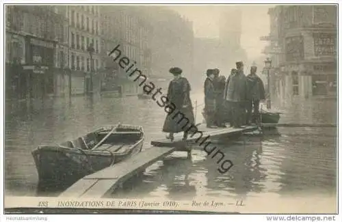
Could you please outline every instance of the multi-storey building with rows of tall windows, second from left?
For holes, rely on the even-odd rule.
[[[84,94],[100,87],[98,70],[101,69],[100,10],[98,5],[56,5],[56,12],[68,21],[67,66],[71,73],[72,94]],[[88,48],[92,46],[92,61]]]

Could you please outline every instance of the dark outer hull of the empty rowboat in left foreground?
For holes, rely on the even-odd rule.
[[[38,171],[40,191],[50,187],[66,189],[84,176],[141,152],[143,143],[144,137],[141,137],[122,152],[82,150],[61,145],[40,146],[32,151]]]

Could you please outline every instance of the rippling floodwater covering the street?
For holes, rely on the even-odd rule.
[[[202,94],[196,119],[201,122]],[[275,104],[285,111],[283,123],[335,123],[337,101],[292,99]],[[166,113],[153,100],[88,97],[36,100],[5,106],[5,193],[36,195],[38,174],[31,150],[42,144],[74,139],[94,128],[118,122],[144,127],[144,149],[161,133]],[[112,197],[193,199],[194,197],[255,196],[274,193],[327,194],[337,191],[337,128],[278,128],[278,134],[241,137],[220,150],[234,166],[220,174],[219,165],[200,148],[174,152],[146,169],[131,186]],[[51,194],[52,195],[52,194]],[[55,194],[54,194],[55,195]]]

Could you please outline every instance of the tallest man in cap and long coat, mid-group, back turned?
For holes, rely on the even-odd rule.
[[[231,107],[231,126],[244,128],[246,125],[247,81],[242,61],[236,63],[237,69],[231,70],[226,84],[226,100]]]

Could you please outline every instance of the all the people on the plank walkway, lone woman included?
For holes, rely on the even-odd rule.
[[[167,104],[172,104],[174,111],[166,116],[163,132],[169,133],[167,138],[171,140],[174,139],[174,133],[184,132],[183,139],[187,139],[189,132],[182,121],[186,119],[188,126],[195,122],[194,107],[190,99],[191,86],[189,81],[181,76],[181,68],[173,67],[169,72],[173,74],[174,79],[168,86]],[[265,89],[263,81],[256,73],[257,66],[252,66],[246,77],[242,61],[236,63],[236,68],[231,70],[228,79],[220,76],[220,70],[217,68],[207,70],[204,114],[208,128],[226,127],[227,122],[235,128],[244,128],[244,125],[258,120],[259,102],[265,99]]]

